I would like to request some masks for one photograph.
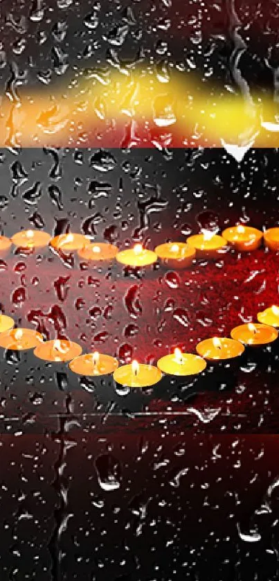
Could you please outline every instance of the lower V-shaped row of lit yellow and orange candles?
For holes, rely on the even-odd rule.
[[[196,347],[197,355],[174,353],[163,356],[157,366],[139,364],[119,367],[118,360],[98,352],[83,354],[82,347],[69,340],[44,341],[33,329],[15,329],[15,322],[7,315],[0,315],[0,347],[24,351],[34,349],[34,354],[44,361],[70,362],[69,368],[83,376],[114,374],[116,383],[132,388],[143,388],[158,383],[162,373],[173,376],[195,376],[206,369],[206,361],[228,361],[241,356],[244,346],[267,345],[278,338],[279,307],[273,305],[258,313],[258,323],[242,324],[231,331],[231,338],[213,337],[203,340]]]

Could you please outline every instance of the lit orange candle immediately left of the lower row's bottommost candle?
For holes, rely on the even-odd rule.
[[[76,357],[69,363],[69,367],[78,375],[109,375],[118,368],[118,361],[109,355],[95,352]]]

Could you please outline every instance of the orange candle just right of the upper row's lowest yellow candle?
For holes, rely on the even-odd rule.
[[[183,242],[169,242],[156,246],[155,253],[164,266],[173,268],[187,268],[195,259],[196,250]]]

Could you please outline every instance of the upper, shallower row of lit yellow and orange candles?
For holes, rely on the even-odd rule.
[[[0,236],[0,256],[3,257],[11,245],[32,251],[50,245],[56,251],[77,251],[80,258],[95,263],[110,263],[116,259],[126,266],[149,266],[161,259],[170,268],[187,268],[193,259],[217,259],[226,251],[228,244],[240,252],[250,252],[264,245],[269,250],[279,250],[279,227],[269,228],[265,232],[244,225],[226,228],[219,236],[214,232],[204,230],[201,234],[190,236],[186,243],[170,242],[156,246],[155,250],[147,250],[143,245],[136,244],[119,252],[118,248],[109,243],[91,243],[84,234],[60,234],[51,238],[50,234],[40,230],[21,230],[11,239]]]

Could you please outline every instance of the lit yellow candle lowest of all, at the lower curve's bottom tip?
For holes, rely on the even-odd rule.
[[[158,383],[162,377],[158,367],[143,365],[133,361],[131,365],[118,367],[114,372],[114,381],[129,388],[147,388]]]

